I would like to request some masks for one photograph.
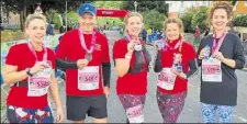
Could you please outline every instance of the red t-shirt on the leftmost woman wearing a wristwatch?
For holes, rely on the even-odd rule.
[[[44,49],[36,52],[38,61],[43,60]],[[47,60],[52,63],[53,69],[55,68],[55,53],[47,48]],[[10,48],[7,55],[7,65],[18,66],[18,71],[25,70],[35,65],[36,58],[30,50],[27,44],[18,44]],[[22,80],[27,82],[27,78]],[[43,109],[48,105],[47,94],[42,97],[27,97],[27,87],[11,87],[7,99],[8,105],[29,109]]]

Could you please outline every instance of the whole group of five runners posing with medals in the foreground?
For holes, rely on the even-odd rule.
[[[111,63],[108,38],[98,32],[97,8],[91,3],[79,7],[78,29],[65,33],[55,53],[43,46],[46,19],[41,14],[26,18],[29,42],[10,48],[4,66],[4,82],[11,84],[7,99],[10,123],[54,122],[47,93],[57,106],[56,122],[64,112],[58,94],[55,67],[66,70],[66,115],[74,123],[86,116],[94,123],[108,123],[106,101],[110,95]],[[221,123],[232,122],[237,104],[235,69],[245,64],[239,37],[226,31],[232,7],[215,2],[209,21],[214,34],[203,37],[198,53],[183,40],[183,23],[168,19],[164,25],[166,38],[156,42],[154,71],[157,80],[157,104],[164,123],[176,123],[184,106],[188,78],[201,66],[202,115],[204,123],[213,123],[216,113]],[[124,19],[125,36],[113,45],[114,68],[117,75],[116,93],[126,113],[126,123],[144,123],[147,76],[151,56],[139,38],[143,16],[130,12]]]

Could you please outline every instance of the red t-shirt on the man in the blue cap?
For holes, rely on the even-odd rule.
[[[89,49],[91,46],[92,34],[83,34],[86,46]],[[67,69],[66,70],[66,94],[76,95],[76,97],[86,97],[86,95],[99,95],[103,94],[103,81],[102,81],[102,63],[110,63],[109,56],[109,45],[106,37],[97,32],[96,34],[96,47],[92,52],[92,60],[88,66],[98,66],[99,67],[99,89],[97,90],[79,90],[78,84],[78,69]],[[78,59],[85,59],[86,50],[82,48],[78,30],[72,30],[67,32],[57,48],[57,58],[67,58],[69,61],[77,61]]]

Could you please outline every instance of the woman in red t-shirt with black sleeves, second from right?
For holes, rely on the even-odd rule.
[[[182,40],[183,25],[179,19],[168,19],[164,29],[167,40],[155,43],[157,102],[164,123],[176,123],[187,97],[188,78],[197,71],[195,52]]]

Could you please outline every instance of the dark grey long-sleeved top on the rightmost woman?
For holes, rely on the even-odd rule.
[[[213,46],[213,35],[209,35],[202,38],[199,45],[198,56],[204,46]],[[227,33],[220,50],[225,58],[234,59],[236,67],[222,63],[222,82],[205,82],[201,79],[201,94],[200,101],[209,104],[220,105],[236,105],[237,104],[237,77],[235,75],[236,69],[242,69],[245,65],[244,47],[240,38],[233,34]],[[201,66],[201,60],[199,66]]]

